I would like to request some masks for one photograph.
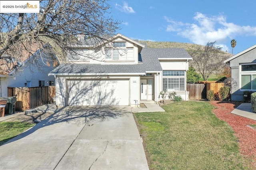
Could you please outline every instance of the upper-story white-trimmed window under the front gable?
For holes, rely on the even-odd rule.
[[[114,42],[114,48],[106,49],[106,61],[133,61],[134,52],[132,47],[126,48],[125,42]]]

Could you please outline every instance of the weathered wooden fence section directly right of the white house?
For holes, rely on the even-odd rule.
[[[189,92],[189,100],[200,100],[206,98],[205,84],[187,84],[187,91]]]

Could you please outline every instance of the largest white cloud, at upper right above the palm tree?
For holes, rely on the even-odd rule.
[[[238,35],[256,36],[256,27],[228,23],[223,15],[206,16],[198,12],[193,18],[194,23],[174,21],[168,17],[164,19],[168,23],[166,31],[177,32],[178,35],[200,45],[206,45],[209,41],[217,41],[223,51],[229,51],[224,44]]]

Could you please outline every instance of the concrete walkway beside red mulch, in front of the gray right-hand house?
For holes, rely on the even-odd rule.
[[[242,103],[231,111],[231,113],[256,120],[256,113],[253,113],[251,103]]]

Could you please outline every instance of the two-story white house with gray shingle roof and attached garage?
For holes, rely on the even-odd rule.
[[[101,49],[77,48],[74,64],[61,64],[49,75],[56,77],[57,106],[135,105],[160,101],[162,90],[175,91],[188,100],[186,71],[192,57],[179,48],[144,48],[120,33]]]

